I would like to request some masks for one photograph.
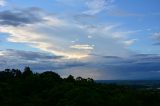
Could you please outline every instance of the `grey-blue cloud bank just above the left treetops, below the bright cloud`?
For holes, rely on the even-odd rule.
[[[23,69],[25,66],[30,66],[34,71],[42,72],[46,70],[67,69],[84,65],[83,62],[76,60],[66,61],[61,56],[55,56],[48,53],[14,49],[0,50],[0,69]]]

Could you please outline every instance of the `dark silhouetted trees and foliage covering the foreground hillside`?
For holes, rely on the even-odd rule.
[[[61,78],[46,71],[0,72],[0,106],[160,106],[160,91],[95,83],[93,79]]]

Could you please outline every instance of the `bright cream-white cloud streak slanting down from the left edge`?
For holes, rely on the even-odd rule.
[[[41,27],[37,26],[37,28],[40,29]],[[80,51],[72,49],[68,50],[69,47],[67,47],[67,41],[56,38],[58,35],[52,36],[52,33],[49,35],[44,33],[41,34],[33,25],[25,27],[1,27],[0,32],[11,34],[8,38],[8,41],[10,42],[27,43],[31,47],[38,48],[55,55],[66,56],[68,58],[81,58],[86,57],[87,55],[85,51],[81,53]]]

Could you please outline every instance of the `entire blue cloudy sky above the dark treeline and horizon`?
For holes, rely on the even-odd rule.
[[[160,79],[160,0],[0,0],[0,69]]]

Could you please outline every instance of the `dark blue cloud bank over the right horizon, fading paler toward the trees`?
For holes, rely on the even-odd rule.
[[[84,66],[64,68],[60,73],[99,80],[159,79],[159,64],[160,56],[155,54],[137,54],[127,58],[92,55]]]

